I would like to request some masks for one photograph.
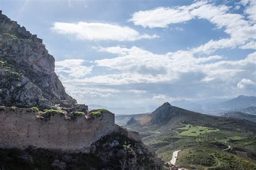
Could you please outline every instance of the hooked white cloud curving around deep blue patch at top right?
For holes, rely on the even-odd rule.
[[[129,19],[135,25],[143,27],[168,27],[170,24],[183,23],[191,19],[207,19],[216,25],[217,29],[224,29],[230,38],[210,40],[206,44],[193,48],[193,53],[211,53],[220,48],[235,48],[244,46],[251,39],[256,39],[256,2],[242,2],[245,5],[245,15],[230,13],[230,6],[209,4],[207,1],[196,2],[187,6],[172,8],[160,7],[153,10],[138,11]],[[246,46],[251,48],[253,46]]]

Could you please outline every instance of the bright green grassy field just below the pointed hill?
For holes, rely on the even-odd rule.
[[[200,134],[219,131],[219,129],[208,128],[205,126],[192,126],[192,125],[186,125],[183,128],[177,128],[177,129],[185,130],[185,131],[179,133],[181,136],[194,136],[194,137],[199,136]]]

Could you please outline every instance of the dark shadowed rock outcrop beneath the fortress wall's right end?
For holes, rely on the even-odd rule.
[[[90,151],[110,169],[163,169],[163,161],[149,147],[120,134],[101,138]]]

